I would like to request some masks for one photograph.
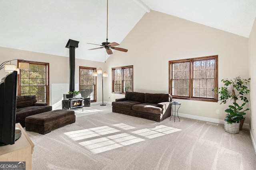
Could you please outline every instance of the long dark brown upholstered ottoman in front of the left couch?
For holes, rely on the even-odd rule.
[[[53,129],[74,123],[76,115],[71,110],[52,110],[25,118],[26,131],[40,134],[49,133]]]

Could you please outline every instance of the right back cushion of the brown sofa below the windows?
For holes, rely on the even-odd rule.
[[[170,94],[145,94],[145,103],[158,104],[161,102],[170,102]]]

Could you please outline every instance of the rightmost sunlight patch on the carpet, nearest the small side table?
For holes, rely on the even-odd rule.
[[[177,131],[181,131],[181,129],[176,129],[174,127],[160,125],[160,126],[156,126],[155,128],[152,128],[152,129],[141,129],[138,131],[132,131],[132,133],[146,137],[148,139],[152,139],[155,137],[160,137],[160,136],[174,133]]]

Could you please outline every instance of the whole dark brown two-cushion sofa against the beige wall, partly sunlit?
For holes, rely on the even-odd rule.
[[[124,98],[112,102],[112,111],[160,122],[171,114],[170,101],[170,94],[126,92]]]

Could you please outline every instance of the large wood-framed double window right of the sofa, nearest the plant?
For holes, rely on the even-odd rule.
[[[169,70],[173,98],[218,102],[218,55],[169,61]]]

